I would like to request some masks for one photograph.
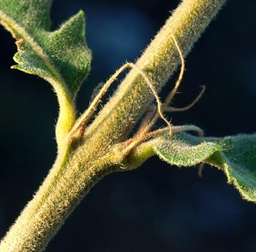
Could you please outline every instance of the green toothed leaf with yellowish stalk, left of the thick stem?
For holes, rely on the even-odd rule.
[[[60,104],[56,126],[61,143],[75,122],[75,97],[91,63],[82,11],[51,32],[51,0],[0,0],[0,22],[17,39],[17,65],[51,83]]]

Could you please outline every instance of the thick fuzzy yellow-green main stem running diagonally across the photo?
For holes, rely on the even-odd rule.
[[[224,0],[184,0],[137,61],[154,81],[157,90],[180,63],[172,39],[188,54]],[[120,171],[124,161],[115,148],[141,116],[152,94],[134,70],[89,126],[80,142],[67,139],[56,163],[34,198],[3,238],[1,252],[42,251],[84,195],[104,175]]]

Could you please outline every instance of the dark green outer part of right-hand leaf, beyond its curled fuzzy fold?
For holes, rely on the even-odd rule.
[[[216,141],[224,150],[216,152],[207,163],[222,169],[246,199],[256,202],[256,134],[227,136]]]

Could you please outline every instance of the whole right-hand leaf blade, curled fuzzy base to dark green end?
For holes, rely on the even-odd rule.
[[[153,149],[171,165],[188,167],[203,162],[222,169],[243,198],[256,202],[256,134],[225,138],[163,134]]]

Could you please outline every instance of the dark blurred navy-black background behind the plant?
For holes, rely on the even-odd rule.
[[[54,28],[80,8],[87,17],[91,73],[78,95],[80,112],[93,87],[124,61],[135,61],[178,1],[62,1]],[[256,129],[255,0],[229,0],[187,57],[176,106],[207,91],[196,107],[172,114],[209,136]],[[30,200],[54,162],[58,104],[49,84],[10,70],[14,40],[0,30],[0,234]],[[174,83],[175,79],[169,82]],[[242,200],[221,171],[178,169],[151,158],[104,178],[86,196],[47,251],[256,251],[256,205]]]

